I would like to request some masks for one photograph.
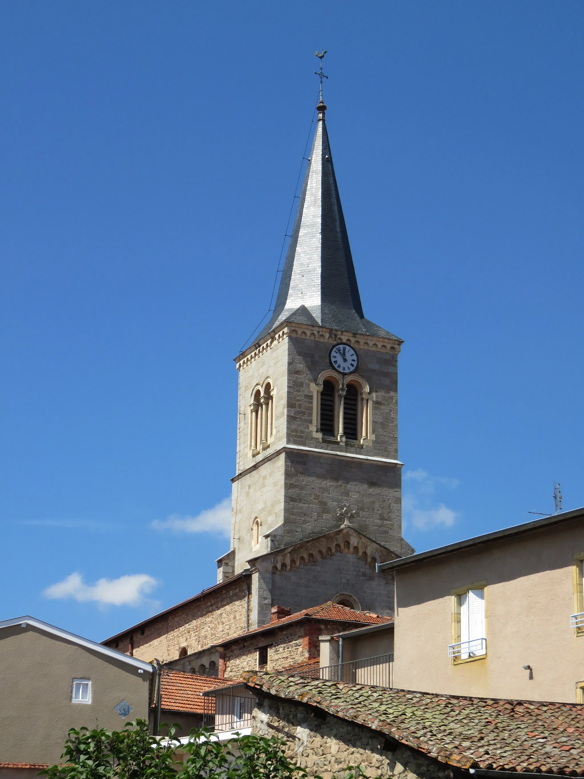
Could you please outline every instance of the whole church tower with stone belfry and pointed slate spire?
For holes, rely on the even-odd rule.
[[[220,579],[341,525],[392,557],[411,552],[397,449],[403,342],[364,318],[325,111],[321,100],[272,318],[236,359],[231,552]],[[333,367],[336,344],[349,371],[343,357],[356,352],[353,372]]]

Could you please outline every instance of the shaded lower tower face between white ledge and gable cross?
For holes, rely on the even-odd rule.
[[[399,467],[308,452],[286,453],[283,546],[336,530],[347,504],[361,533],[402,553]]]

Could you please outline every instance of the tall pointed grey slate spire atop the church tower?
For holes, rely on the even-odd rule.
[[[262,338],[282,322],[392,337],[364,318],[336,185],[322,102],[276,306]]]

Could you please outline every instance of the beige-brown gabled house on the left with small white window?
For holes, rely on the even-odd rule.
[[[148,720],[153,667],[30,616],[0,622],[0,777],[58,763],[69,728]]]

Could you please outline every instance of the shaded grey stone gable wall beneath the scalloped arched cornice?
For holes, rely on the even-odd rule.
[[[293,614],[331,601],[341,592],[354,595],[364,611],[393,616],[392,580],[352,552],[332,552],[330,557],[272,574],[272,605],[291,608]]]

